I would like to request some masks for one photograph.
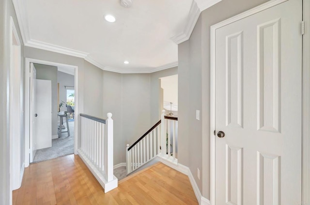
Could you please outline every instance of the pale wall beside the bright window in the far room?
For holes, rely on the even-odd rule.
[[[57,72],[57,82],[59,83],[59,102],[67,102],[67,90],[64,86],[72,86],[74,89],[74,75],[68,73]],[[65,105],[60,108],[61,111],[67,111]]]

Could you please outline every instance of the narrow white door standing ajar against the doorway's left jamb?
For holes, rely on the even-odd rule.
[[[30,156],[29,156],[29,162],[31,163],[33,161],[33,158],[36,153],[36,120],[35,117],[36,112],[36,70],[33,66],[33,63],[30,63],[30,139],[29,139],[29,149],[30,149]]]

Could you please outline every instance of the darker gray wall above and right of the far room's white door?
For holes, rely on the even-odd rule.
[[[57,67],[42,64],[33,64],[36,69],[36,78],[41,80],[50,80],[52,84],[52,135],[58,135],[57,132]]]

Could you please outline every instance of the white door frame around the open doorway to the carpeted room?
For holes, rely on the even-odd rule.
[[[51,66],[68,67],[75,69],[74,87],[75,87],[75,113],[78,116],[78,66],[68,65],[63,63],[50,62],[40,59],[25,58],[25,167],[29,166],[30,154],[30,63],[39,63]],[[78,149],[78,117],[74,120],[74,154],[77,154]]]

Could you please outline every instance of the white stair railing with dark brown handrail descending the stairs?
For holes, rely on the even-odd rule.
[[[177,120],[177,117],[166,116],[163,110],[161,120],[132,146],[126,146],[127,175],[156,156],[177,162]]]

